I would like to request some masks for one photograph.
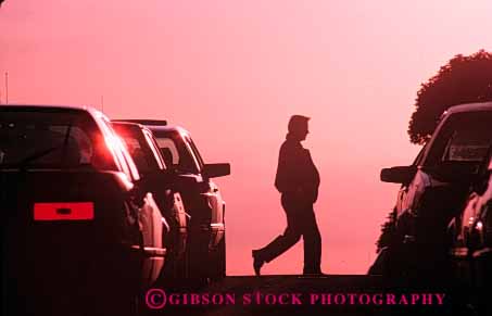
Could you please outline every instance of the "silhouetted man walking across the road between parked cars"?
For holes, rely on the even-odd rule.
[[[319,173],[310,151],[301,141],[308,134],[308,117],[293,115],[289,121],[289,132],[280,147],[275,187],[281,193],[281,204],[287,215],[287,228],[268,245],[253,250],[254,273],[265,262],[270,262],[294,245],[301,236],[304,240],[304,275],[323,275],[321,237],[319,235],[313,203],[318,197]]]

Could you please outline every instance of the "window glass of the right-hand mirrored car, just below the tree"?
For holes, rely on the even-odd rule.
[[[483,162],[492,143],[491,126],[492,112],[452,114],[431,144],[425,165]]]

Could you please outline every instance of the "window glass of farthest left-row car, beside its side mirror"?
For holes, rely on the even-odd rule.
[[[166,165],[182,173],[201,172],[200,163],[194,157],[194,152],[191,144],[187,142],[186,136],[180,135],[179,131],[155,130],[153,134]]]

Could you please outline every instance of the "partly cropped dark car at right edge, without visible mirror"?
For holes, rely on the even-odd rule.
[[[492,129],[492,126],[491,126]],[[492,131],[492,130],[491,130]],[[461,285],[492,287],[492,157],[471,185],[462,211],[449,226],[455,276]]]

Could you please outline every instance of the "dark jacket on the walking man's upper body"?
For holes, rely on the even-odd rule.
[[[289,135],[280,147],[275,187],[282,194],[314,203],[318,197],[319,173],[311,153]]]

